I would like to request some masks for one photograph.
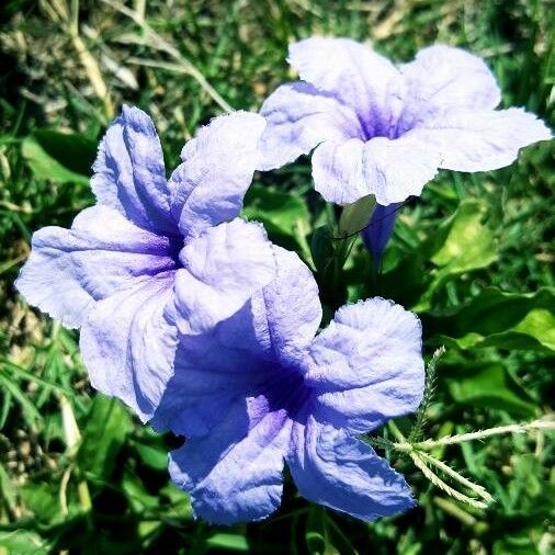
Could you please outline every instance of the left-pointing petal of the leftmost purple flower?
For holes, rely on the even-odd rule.
[[[135,226],[107,206],[81,212],[71,229],[33,235],[31,256],[15,286],[25,299],[67,327],[79,327],[95,301],[137,279],[174,270],[166,237]]]

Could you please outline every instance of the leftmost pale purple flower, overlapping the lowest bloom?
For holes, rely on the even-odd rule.
[[[98,204],[70,229],[33,236],[18,288],[65,326],[81,328],[92,385],[143,420],[173,374],[178,329],[213,327],[275,275],[263,228],[233,219],[264,125],[245,112],[213,120],[184,146],[168,181],[151,120],[124,106],[93,166]]]

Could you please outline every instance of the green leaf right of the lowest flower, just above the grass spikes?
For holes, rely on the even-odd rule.
[[[484,407],[518,417],[535,416],[535,405],[500,363],[474,364],[456,378],[448,378],[448,386],[456,403],[471,407]]]

